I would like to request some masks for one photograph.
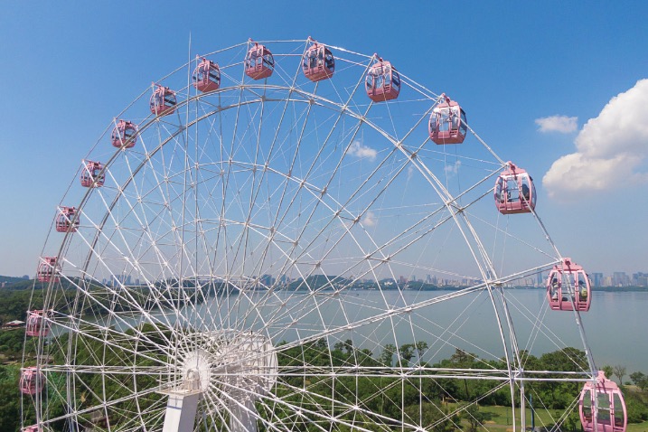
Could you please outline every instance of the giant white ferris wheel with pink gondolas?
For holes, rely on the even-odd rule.
[[[37,270],[24,430],[488,429],[484,405],[513,430],[625,430],[531,175],[377,54],[198,56],[76,177]]]

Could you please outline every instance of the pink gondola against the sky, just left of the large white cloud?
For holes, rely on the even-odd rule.
[[[536,188],[526,171],[511,162],[495,181],[495,206],[502,214],[530,213],[536,208]]]

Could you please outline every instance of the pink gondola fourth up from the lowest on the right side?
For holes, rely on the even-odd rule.
[[[464,109],[445,94],[441,95],[441,98],[444,101],[439,103],[430,115],[427,127],[430,139],[437,145],[461,144],[468,130]]]

